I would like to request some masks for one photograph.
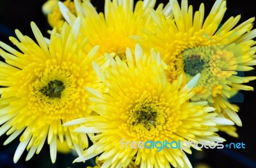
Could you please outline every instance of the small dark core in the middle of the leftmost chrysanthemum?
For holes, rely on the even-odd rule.
[[[47,86],[40,89],[40,92],[47,97],[60,98],[61,92],[65,89],[65,85],[62,81],[54,80],[50,81]]]

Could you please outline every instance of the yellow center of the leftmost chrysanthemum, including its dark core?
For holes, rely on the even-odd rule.
[[[26,115],[38,118],[38,127],[51,124],[54,121],[63,122],[70,118],[83,117],[86,109],[86,93],[83,88],[84,78],[80,74],[80,67],[71,62],[47,60],[46,64],[30,64],[20,75],[23,76],[19,93],[28,99]],[[24,93],[28,90],[28,94]],[[90,113],[85,111],[84,113]],[[22,115],[19,116],[22,121]]]

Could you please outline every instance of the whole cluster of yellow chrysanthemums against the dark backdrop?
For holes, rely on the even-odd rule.
[[[49,0],[52,26],[36,40],[15,30],[0,42],[0,136],[19,138],[13,162],[49,145],[95,167],[192,167],[192,149],[223,148],[218,131],[238,137],[230,102],[255,76],[254,18],[223,22],[226,1],[209,15],[188,0]],[[65,147],[63,147],[65,146]],[[242,143],[242,147],[243,143]]]

